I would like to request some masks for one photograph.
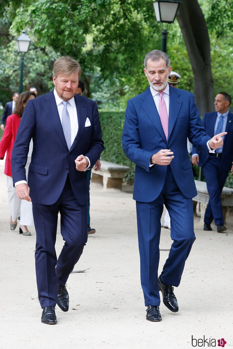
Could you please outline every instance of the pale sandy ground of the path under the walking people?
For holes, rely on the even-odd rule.
[[[70,309],[56,309],[58,323],[41,323],[35,277],[35,229],[32,236],[9,229],[4,167],[0,167],[0,348],[192,348],[192,336],[210,340],[232,335],[233,216],[227,216],[227,233],[198,229],[186,262],[182,282],[175,288],[179,312],[161,302],[161,322],[146,321],[140,285],[136,207],[132,193],[103,191],[91,185],[91,226],[80,261],[67,281]],[[165,212],[163,212],[164,216]],[[58,224],[58,227],[60,222]],[[160,248],[169,249],[170,231],[162,228]],[[57,235],[59,254],[63,240]],[[160,266],[168,251],[160,252]],[[214,344],[214,342],[212,341]],[[204,344],[199,341],[199,346]],[[205,347],[207,343],[205,342]]]

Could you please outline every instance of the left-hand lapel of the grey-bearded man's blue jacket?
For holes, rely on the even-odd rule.
[[[143,98],[145,98],[145,99],[143,99],[144,102],[141,106],[142,106],[143,110],[146,112],[147,116],[153,122],[154,126],[156,127],[156,129],[160,133],[163,140],[167,143],[166,136],[165,136],[165,133],[164,133],[163,128],[162,128],[159,113],[158,113],[158,110],[155,106],[150,87],[145,92],[147,92],[147,91],[148,91],[147,97],[143,96]]]

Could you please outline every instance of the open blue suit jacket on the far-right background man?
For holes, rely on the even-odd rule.
[[[206,129],[206,132],[213,137],[214,136],[214,126],[217,119],[217,112],[206,113],[202,120],[203,125]],[[233,114],[228,113],[227,124],[226,124],[226,132],[227,135],[224,139],[223,145],[223,155],[221,157],[221,165],[224,171],[230,171],[233,161]],[[198,166],[203,166],[208,160],[208,156],[200,152],[198,147],[192,148],[192,154],[199,155],[199,163]]]

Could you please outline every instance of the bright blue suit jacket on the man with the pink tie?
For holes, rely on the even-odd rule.
[[[151,202],[161,193],[167,166],[149,167],[150,158],[161,149],[171,149],[173,176],[187,198],[197,195],[187,137],[208,156],[206,134],[192,93],[169,87],[168,140],[166,140],[150,87],[130,99],[125,112],[122,143],[126,156],[136,164],[133,199]]]

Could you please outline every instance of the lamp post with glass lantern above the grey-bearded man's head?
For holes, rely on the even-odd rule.
[[[161,51],[167,52],[167,35],[170,24],[174,22],[181,1],[176,0],[156,0],[153,2],[155,17],[161,25],[162,47]],[[167,28],[163,28],[163,23],[168,23]]]

